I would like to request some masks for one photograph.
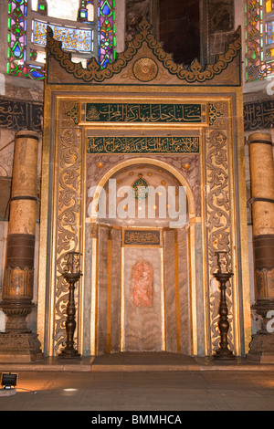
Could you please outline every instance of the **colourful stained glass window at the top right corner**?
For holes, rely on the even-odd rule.
[[[274,0],[246,1],[246,79],[274,76]]]

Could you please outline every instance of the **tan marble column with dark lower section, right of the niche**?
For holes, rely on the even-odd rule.
[[[262,319],[252,336],[248,360],[274,363],[274,165],[271,135],[249,136],[251,204],[255,269],[255,305]]]

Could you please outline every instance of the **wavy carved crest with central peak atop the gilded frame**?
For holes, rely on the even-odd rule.
[[[91,58],[87,68],[83,68],[81,63],[73,63],[71,61],[71,55],[62,50],[61,42],[53,38],[52,29],[47,26],[47,83],[56,83],[55,78],[58,78],[59,83],[66,83],[69,75],[81,80],[85,84],[92,81],[98,83],[103,82],[105,79],[110,79],[114,75],[120,73],[134,58],[138,50],[142,48],[142,45],[147,45],[151,49],[153,56],[162,63],[163,68],[168,70],[170,75],[174,75],[176,78],[186,83],[200,84],[210,82],[213,78],[226,70],[235,58],[239,58],[240,56],[241,31],[240,28],[238,28],[234,40],[227,47],[227,51],[224,54],[220,54],[214,64],[208,64],[204,68],[197,59],[187,67],[183,64],[176,64],[172,54],[167,54],[163,50],[162,43],[157,42],[151,32],[151,27],[152,26],[143,19],[139,24],[139,34],[128,43],[128,46],[122,53],[118,54],[113,64],[108,64],[106,68],[102,69],[95,58]],[[57,71],[57,63],[62,73],[65,73],[61,79]],[[58,73],[58,76],[54,76],[56,73]],[[231,85],[229,77],[227,77],[227,85]],[[233,83],[233,85],[235,85],[235,83]],[[239,81],[237,81],[236,85],[239,85]]]

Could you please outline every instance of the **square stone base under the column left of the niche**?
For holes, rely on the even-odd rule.
[[[41,343],[33,332],[0,332],[0,362],[43,360]]]

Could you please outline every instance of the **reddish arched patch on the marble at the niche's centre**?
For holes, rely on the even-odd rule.
[[[145,261],[132,268],[133,304],[136,307],[153,307],[153,268]]]

